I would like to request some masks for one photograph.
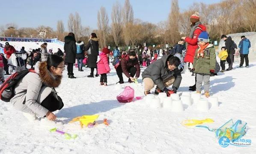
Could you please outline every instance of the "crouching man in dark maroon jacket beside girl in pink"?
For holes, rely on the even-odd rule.
[[[129,78],[129,83],[133,83],[135,81],[135,74],[135,79],[140,77],[140,65],[134,51],[131,51],[129,54],[126,54],[125,57],[122,58],[119,66],[116,68],[116,74],[119,77],[118,83],[120,84],[124,83],[122,72],[125,74],[126,77]]]

